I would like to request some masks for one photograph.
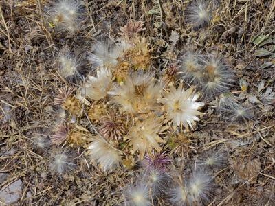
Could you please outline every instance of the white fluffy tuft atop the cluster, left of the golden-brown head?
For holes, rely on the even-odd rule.
[[[122,58],[126,49],[130,47],[131,45],[124,41],[118,44],[113,43],[111,40],[97,41],[92,47],[89,60],[95,68],[113,67],[118,63],[118,58]]]

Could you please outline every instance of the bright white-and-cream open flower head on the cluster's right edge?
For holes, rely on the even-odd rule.
[[[197,111],[203,102],[195,102],[199,98],[198,94],[195,94],[192,88],[184,91],[182,84],[176,89],[170,87],[170,91],[164,93],[164,98],[159,102],[164,105],[164,109],[167,112],[167,118],[172,119],[174,126],[180,126],[181,124],[188,128],[192,128],[192,124],[195,121],[199,121],[197,115],[203,113]]]

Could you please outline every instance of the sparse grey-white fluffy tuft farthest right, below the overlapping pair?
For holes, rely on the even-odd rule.
[[[243,104],[234,100],[231,95],[221,95],[218,111],[222,117],[232,122],[248,122],[254,120],[252,107],[245,107]]]

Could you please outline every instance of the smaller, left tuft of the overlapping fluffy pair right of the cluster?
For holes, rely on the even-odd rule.
[[[188,82],[201,83],[203,80],[203,65],[199,60],[199,55],[192,52],[187,52],[180,60],[179,73]]]

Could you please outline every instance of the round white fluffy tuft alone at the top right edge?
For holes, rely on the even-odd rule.
[[[185,10],[186,22],[190,23],[195,30],[199,30],[210,24],[212,4],[205,0],[195,0]]]

